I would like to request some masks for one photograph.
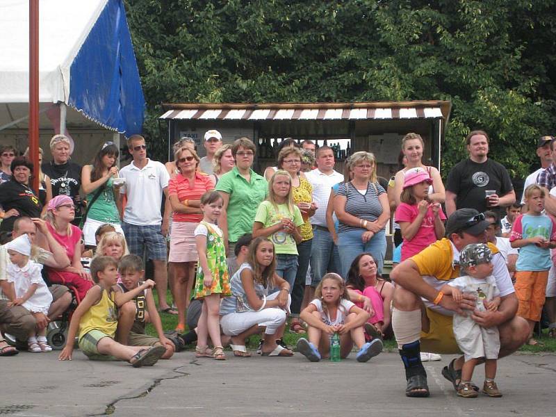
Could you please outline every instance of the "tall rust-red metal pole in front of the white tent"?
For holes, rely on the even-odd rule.
[[[29,156],[35,193],[39,192],[39,0],[29,0]]]

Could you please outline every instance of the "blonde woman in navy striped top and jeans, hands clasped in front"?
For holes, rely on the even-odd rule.
[[[342,276],[347,276],[355,256],[370,252],[379,274],[386,255],[384,228],[390,219],[386,190],[377,181],[376,159],[370,152],[355,152],[349,159],[353,178],[338,186],[334,212],[338,217],[338,251]]]

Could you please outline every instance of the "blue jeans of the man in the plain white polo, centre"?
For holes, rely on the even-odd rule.
[[[316,287],[327,272],[341,273],[338,247],[334,245],[328,230],[313,226],[313,247],[311,248],[311,286]]]

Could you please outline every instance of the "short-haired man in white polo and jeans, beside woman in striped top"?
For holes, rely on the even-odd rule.
[[[332,186],[343,181],[343,175],[334,171],[334,151],[322,146],[316,150],[317,167],[306,172],[313,186],[313,202],[317,205],[313,224],[313,248],[311,250],[311,288],[315,288],[327,272],[340,273],[340,256],[326,223],[326,208]]]

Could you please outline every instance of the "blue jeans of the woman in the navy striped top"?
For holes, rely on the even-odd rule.
[[[347,271],[350,270],[353,260],[363,252],[369,252],[375,258],[379,275],[382,274],[384,256],[386,256],[386,234],[384,229],[379,231],[367,243],[363,243],[361,236],[365,229],[343,231],[338,234],[338,250],[342,264],[342,276],[347,279]]]

